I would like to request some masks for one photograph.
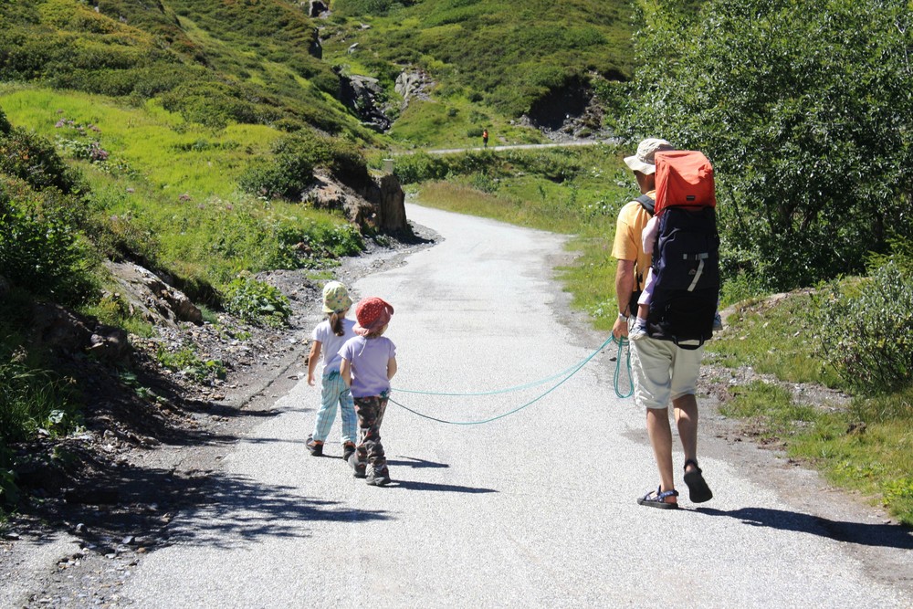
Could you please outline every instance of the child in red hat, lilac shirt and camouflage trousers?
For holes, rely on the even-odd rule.
[[[396,373],[396,345],[383,336],[393,314],[394,308],[383,299],[362,299],[355,306],[354,331],[358,336],[346,341],[340,350],[340,374],[352,390],[359,426],[359,443],[349,465],[355,470],[355,478],[366,478],[368,484],[378,487],[390,483],[381,423],[390,379]]]

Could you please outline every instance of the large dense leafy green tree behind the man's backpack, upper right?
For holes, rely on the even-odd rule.
[[[807,285],[913,235],[906,0],[651,6],[621,127],[707,153],[730,275]]]

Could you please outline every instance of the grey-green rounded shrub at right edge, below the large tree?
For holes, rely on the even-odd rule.
[[[824,357],[863,394],[913,385],[913,274],[893,261],[820,297]]]

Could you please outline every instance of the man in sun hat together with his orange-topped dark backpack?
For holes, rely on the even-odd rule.
[[[631,363],[635,404],[646,408],[647,435],[660,482],[637,503],[677,509],[670,402],[685,453],[684,480],[689,497],[694,503],[713,497],[698,467],[695,396],[703,343],[712,336],[719,298],[712,168],[699,152],[677,152],[666,140],[654,138],[640,142],[637,152],[624,163],[634,171],[641,196],[624,205],[615,230],[612,255],[618,260],[618,319],[612,332],[617,340],[628,336],[635,323],[633,313],[648,269],[652,266],[656,273],[646,335],[631,343]],[[662,169],[659,176],[657,163]],[[643,236],[655,214],[659,217],[658,239],[651,257],[644,251]]]

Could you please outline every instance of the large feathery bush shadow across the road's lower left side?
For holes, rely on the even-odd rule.
[[[211,470],[124,465],[69,488],[61,500],[42,503],[18,530],[39,536],[41,520],[58,522],[88,547],[108,554],[123,546],[154,551],[175,542],[224,548],[308,537],[309,522],[390,518],[384,510],[353,509],[306,492],[297,485],[264,484]]]

